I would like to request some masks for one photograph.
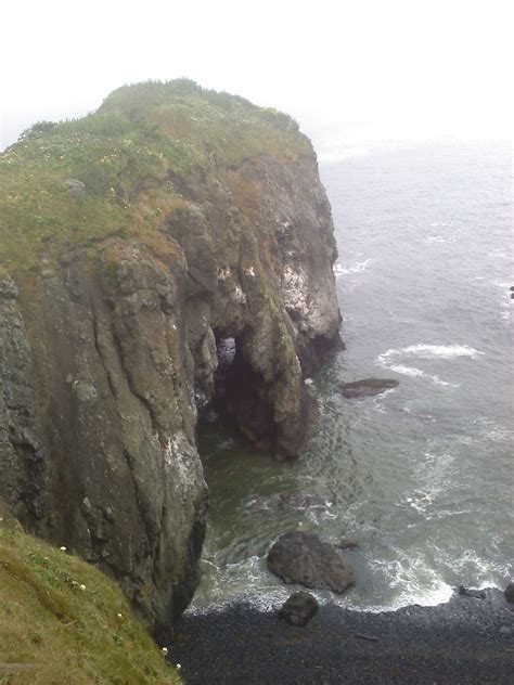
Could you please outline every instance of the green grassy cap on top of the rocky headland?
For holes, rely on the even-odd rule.
[[[242,98],[187,79],[120,88],[97,113],[41,121],[0,155],[0,263],[15,275],[65,241],[150,241],[188,204],[179,186],[247,158],[303,154],[312,148],[291,117]]]

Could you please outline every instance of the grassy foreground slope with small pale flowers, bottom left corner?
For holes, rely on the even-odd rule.
[[[2,526],[1,685],[182,683],[113,581]]]

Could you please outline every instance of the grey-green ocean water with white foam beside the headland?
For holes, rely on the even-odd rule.
[[[210,506],[193,611],[285,599],[266,554],[288,530],[359,541],[343,553],[355,589],[314,593],[356,610],[437,605],[514,576],[511,147],[320,147],[346,349],[307,379],[320,422],[301,458],[278,464],[203,427]],[[370,376],[399,386],[337,391]]]

